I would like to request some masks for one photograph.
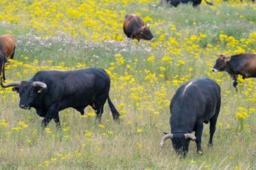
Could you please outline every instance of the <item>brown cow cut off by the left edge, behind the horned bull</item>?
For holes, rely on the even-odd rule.
[[[14,51],[14,38],[10,34],[0,36],[0,75],[3,72],[3,80],[5,80],[5,63],[7,63],[7,59],[13,59]]]

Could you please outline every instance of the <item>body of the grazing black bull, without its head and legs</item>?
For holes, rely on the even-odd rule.
[[[200,78],[181,85],[170,103],[171,129],[185,126],[192,131],[195,122],[209,121],[219,104],[220,87],[215,81]]]

